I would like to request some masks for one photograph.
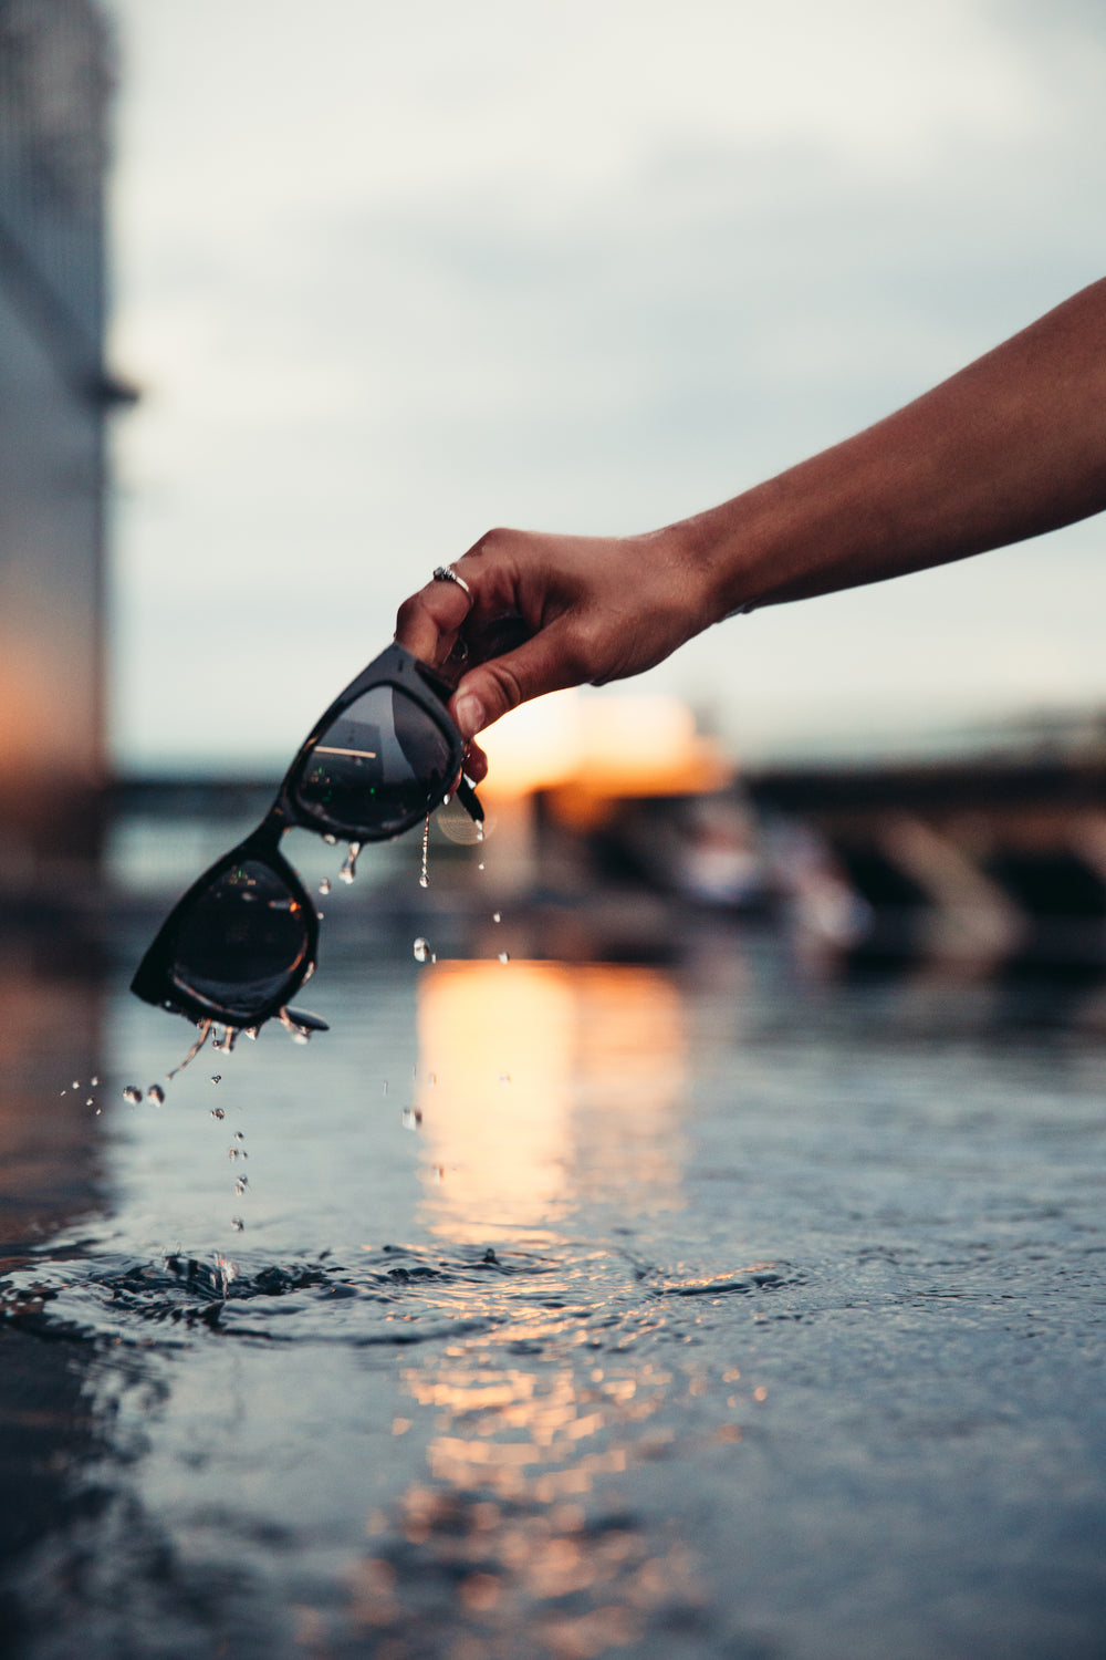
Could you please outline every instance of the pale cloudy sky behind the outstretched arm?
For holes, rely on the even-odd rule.
[[[1098,0],[103,5],[124,770],[279,764],[489,526],[683,518],[1106,271]],[[1106,707],[1104,556],[1091,520],[635,684],[748,759]]]

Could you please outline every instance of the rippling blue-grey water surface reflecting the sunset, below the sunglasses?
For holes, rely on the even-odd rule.
[[[129,964],[10,968],[5,1652],[1101,1657],[1094,988],[484,933],[163,1106]]]

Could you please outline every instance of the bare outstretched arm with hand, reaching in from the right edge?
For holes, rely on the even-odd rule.
[[[527,697],[637,674],[736,609],[963,559],[1106,508],[1106,281],[876,427],[643,536],[489,531],[396,637],[441,662],[463,636],[466,737]],[[521,619],[502,651],[494,624]]]

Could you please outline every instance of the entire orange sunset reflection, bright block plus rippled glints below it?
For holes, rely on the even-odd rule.
[[[448,1630],[459,1660],[517,1652],[522,1630],[527,1653],[585,1660],[662,1612],[686,1625],[701,1602],[686,1545],[612,1489],[668,1451],[672,1429],[650,1421],[686,1376],[635,1353],[665,1315],[627,1298],[632,1262],[612,1290],[610,1250],[555,1232],[584,1199],[617,1194],[623,1218],[682,1204],[680,994],[643,968],[449,963],[420,983],[418,1031],[424,1220],[494,1240],[496,1280],[519,1273],[516,1243],[539,1242],[546,1267],[474,1290],[478,1330],[405,1368],[415,1414],[433,1414],[428,1479],[398,1517],[370,1517],[380,1545],[352,1572],[350,1618],[391,1633],[418,1620],[434,1653]]]

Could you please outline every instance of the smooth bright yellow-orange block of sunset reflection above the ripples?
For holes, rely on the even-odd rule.
[[[648,968],[439,963],[420,981],[416,1111],[429,1227],[532,1240],[584,1192],[682,1204],[677,986]]]

